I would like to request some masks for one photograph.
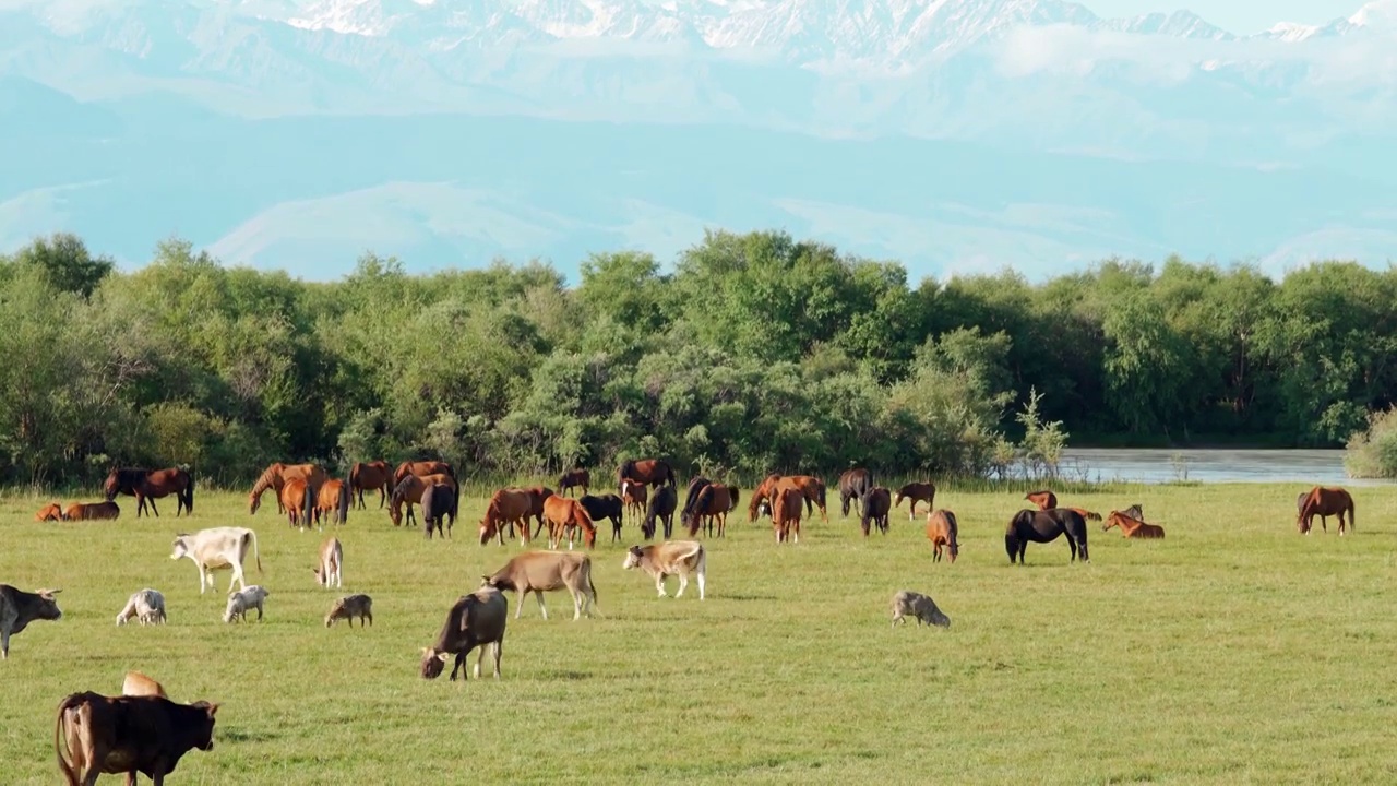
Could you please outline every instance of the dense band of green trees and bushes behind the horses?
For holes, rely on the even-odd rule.
[[[467,474],[664,456],[759,477],[1048,470],[1109,445],[1337,446],[1397,393],[1397,270],[1105,260],[908,280],[784,232],[673,269],[597,253],[334,283],[169,239],[119,271],[60,234],[0,257],[0,481],[432,456]],[[685,474],[682,471],[682,474]]]

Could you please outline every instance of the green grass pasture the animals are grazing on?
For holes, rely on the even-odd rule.
[[[137,669],[176,701],[222,702],[215,748],[173,783],[1393,783],[1397,488],[1352,490],[1343,538],[1333,519],[1296,534],[1301,490],[1063,494],[1101,512],[1141,502],[1168,530],[1126,541],[1094,523],[1090,565],[1059,540],[1010,568],[1003,530],[1024,503],[1009,492],[939,494],[961,522],[956,565],[932,564],[905,509],[863,541],[835,499],[828,524],[782,547],[742,513],[708,544],[703,603],[693,585],[657,599],[604,524],[606,617],[573,622],[552,593],[550,620],[529,599],[514,621],[510,593],[503,680],[486,660],[467,683],[418,664],[451,603],[520,551],[478,544],[483,498],[462,499],[451,543],[370,502],[338,533],[341,592],[310,572],[324,536],[288,529],[270,499],[249,516],[240,495],[203,494],[193,520],[173,501],[137,520],[122,498],[115,523],[39,524],[43,501],[10,496],[0,582],[61,587],[64,618],[34,622],[0,663],[0,780],[60,782],[57,702],[116,694]],[[169,559],[176,531],[225,524],[257,530],[261,624],[221,621],[226,572],[201,597],[193,562]],[[116,628],[144,586],[169,624]],[[890,628],[904,587],[951,628]],[[351,592],[373,596],[376,625],[326,629]]]

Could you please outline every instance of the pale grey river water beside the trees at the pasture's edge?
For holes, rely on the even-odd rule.
[[[1176,457],[1179,460],[1176,460]],[[1295,483],[1299,485],[1389,485],[1344,474],[1343,450],[1232,450],[1069,448],[1062,474],[1092,483]]]

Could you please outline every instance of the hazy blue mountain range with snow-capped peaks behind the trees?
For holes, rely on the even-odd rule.
[[[307,278],[785,228],[914,274],[1397,257],[1397,0],[0,0],[0,249]]]

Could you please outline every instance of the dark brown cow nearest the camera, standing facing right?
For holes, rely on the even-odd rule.
[[[137,772],[159,786],[184,754],[214,750],[217,712],[205,701],[70,694],[53,727],[59,771],[70,786],[89,786],[103,773],[126,773],[127,786],[136,786]]]

